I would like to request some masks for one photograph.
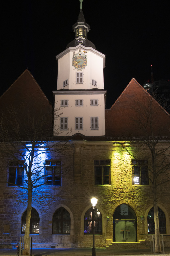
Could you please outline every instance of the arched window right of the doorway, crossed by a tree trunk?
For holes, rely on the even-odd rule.
[[[166,219],[164,212],[158,207],[160,234],[166,234]],[[148,234],[155,233],[154,210],[153,207],[148,212]]]

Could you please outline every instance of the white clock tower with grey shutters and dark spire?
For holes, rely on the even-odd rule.
[[[90,26],[85,22],[80,1],[80,13],[73,25],[75,39],[56,56],[58,80],[55,110],[62,113],[54,120],[60,135],[81,133],[85,136],[105,135],[105,96],[103,68],[105,55],[87,39]],[[70,132],[71,130],[71,132]],[[54,134],[55,135],[55,134]]]

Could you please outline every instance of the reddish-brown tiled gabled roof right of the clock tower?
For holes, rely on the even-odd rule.
[[[169,113],[134,78],[105,110],[105,123],[106,137],[170,136]]]

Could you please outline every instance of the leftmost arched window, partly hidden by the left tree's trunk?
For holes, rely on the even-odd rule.
[[[25,233],[26,214],[27,214],[27,210],[24,212],[22,216],[21,234]],[[32,207],[31,220],[30,220],[30,234],[39,234],[39,228],[40,228],[40,217],[38,212]]]

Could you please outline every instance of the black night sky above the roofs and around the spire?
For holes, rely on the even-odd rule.
[[[111,6],[113,4],[113,6]],[[88,39],[106,55],[104,89],[110,108],[134,77],[141,85],[170,79],[168,1],[84,0]],[[78,0],[3,1],[0,94],[28,68],[50,101],[57,89],[56,55],[75,38]],[[14,97],[17,95],[14,95]]]

